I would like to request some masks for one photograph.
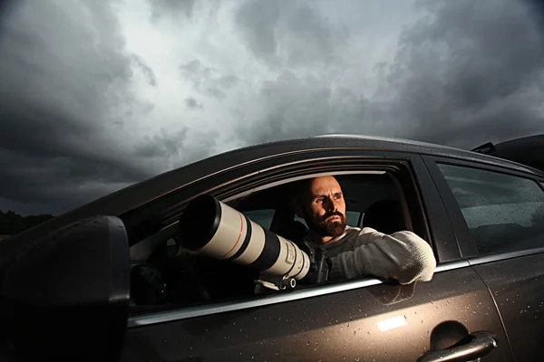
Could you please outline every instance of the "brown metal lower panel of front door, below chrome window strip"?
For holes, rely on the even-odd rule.
[[[491,295],[471,267],[436,273],[411,298],[410,288],[385,283],[131,328],[121,361],[415,361],[448,320],[497,334],[499,346],[481,361],[511,361]]]

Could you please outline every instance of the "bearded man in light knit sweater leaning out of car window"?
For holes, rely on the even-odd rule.
[[[432,248],[415,233],[385,234],[346,224],[345,199],[334,176],[305,180],[296,196],[296,214],[310,230],[306,240],[324,248],[329,257],[329,280],[368,275],[404,285],[432,280]]]

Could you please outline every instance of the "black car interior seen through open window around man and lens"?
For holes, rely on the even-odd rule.
[[[411,230],[411,215],[403,190],[391,173],[335,177],[345,195],[350,226],[368,226],[383,233]],[[295,214],[292,186],[292,182],[272,186],[235,197],[225,204],[296,243],[309,231],[304,220]],[[176,233],[176,225],[172,225],[131,247],[132,314],[255,294],[257,269],[184,249]]]

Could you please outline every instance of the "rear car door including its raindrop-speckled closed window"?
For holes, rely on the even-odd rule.
[[[461,252],[489,286],[517,361],[544,360],[542,176],[427,159],[452,212]]]

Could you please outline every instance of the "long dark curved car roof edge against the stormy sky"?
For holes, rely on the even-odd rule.
[[[238,148],[218,155],[201,159],[189,165],[172,169],[131,186],[104,195],[67,213],[38,224],[23,233],[16,234],[0,242],[0,264],[24,250],[22,241],[30,243],[44,233],[63,227],[96,214],[121,215],[131,212],[141,205],[160,199],[194,182],[217,176],[228,170],[282,155],[304,154],[316,150],[365,149],[391,152],[415,153],[437,157],[453,157],[461,160],[487,163],[491,166],[508,167],[513,170],[544,176],[537,169],[520,165],[506,159],[483,155],[459,148],[434,145],[402,138],[381,138],[358,134],[330,134],[311,138],[294,138],[267,142]],[[145,214],[145,210],[141,213]],[[136,219],[140,216],[134,216]],[[141,216],[143,217],[143,216]]]

